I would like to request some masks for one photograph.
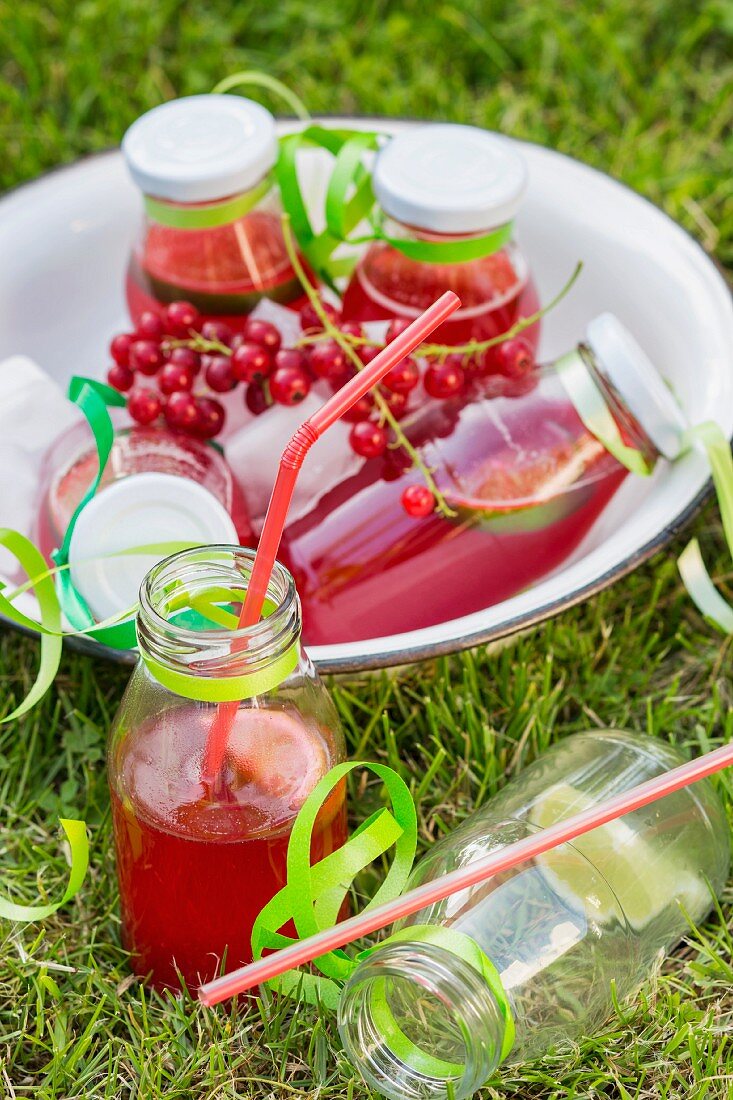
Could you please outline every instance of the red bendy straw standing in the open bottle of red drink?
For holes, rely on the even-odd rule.
[[[363,371],[347,382],[297,428],[280,460],[277,477],[267,505],[267,514],[247,586],[244,605],[239,617],[239,629],[253,626],[260,619],[280,540],[283,537],[295,482],[313,444],[317,439],[320,439],[327,428],[330,428],[352,405],[355,405],[372,386],[375,386],[387,371],[391,371],[405,355],[415,351],[417,345],[423,343],[426,337],[429,337],[446,318],[450,317],[460,304],[460,298],[452,290],[446,290],[437,301],[428,306],[424,314],[420,314],[412,324],[408,324],[404,332],[401,332],[386,348],[383,348]],[[236,651],[245,646],[247,641],[239,639],[232,649]],[[217,708],[204,752],[204,779],[206,781],[215,781],[221,771],[227,740],[236,713],[237,703],[221,703]]]

